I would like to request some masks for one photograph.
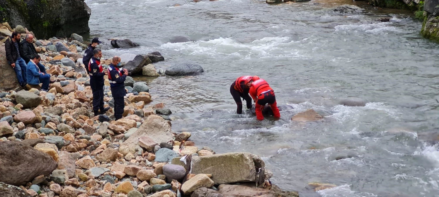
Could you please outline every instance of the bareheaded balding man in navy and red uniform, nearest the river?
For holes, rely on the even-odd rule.
[[[114,99],[114,116],[116,120],[122,118],[123,108],[125,107],[125,73],[122,73],[113,63],[108,66],[108,80],[110,81],[110,88],[112,97]]]

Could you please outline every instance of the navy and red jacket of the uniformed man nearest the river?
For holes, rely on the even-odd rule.
[[[114,66],[114,64],[110,64],[108,66],[108,80],[110,81],[111,93],[113,98],[120,98],[126,95],[125,92],[125,73],[119,71],[119,69]]]

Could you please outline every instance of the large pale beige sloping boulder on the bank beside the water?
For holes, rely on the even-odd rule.
[[[162,117],[150,115],[146,118],[144,123],[140,125],[140,128],[120,145],[119,152],[123,155],[130,152],[135,153],[136,146],[139,146],[139,138],[141,136],[148,136],[157,143],[172,142],[173,140],[171,126]]]

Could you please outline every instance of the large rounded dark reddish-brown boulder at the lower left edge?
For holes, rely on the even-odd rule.
[[[0,182],[19,186],[58,167],[49,155],[19,142],[0,143]]]

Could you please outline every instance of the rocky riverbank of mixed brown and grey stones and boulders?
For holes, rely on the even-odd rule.
[[[13,30],[6,23],[0,29],[20,27]],[[216,154],[191,142],[190,132],[173,132],[172,112],[151,99],[145,82],[127,77],[124,118],[112,120],[113,109],[94,116],[90,77],[81,64],[86,45],[79,40],[78,35],[35,40],[47,73],[57,81],[48,92],[39,86],[20,90],[0,46],[0,197],[299,196],[272,186],[272,173],[258,156]],[[152,52],[125,66],[158,76],[151,63],[162,60],[159,52]],[[191,63],[166,71],[201,72],[201,66]],[[114,107],[108,78],[104,101],[105,107]]]

